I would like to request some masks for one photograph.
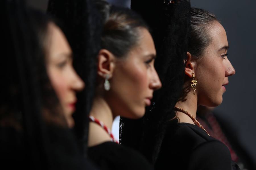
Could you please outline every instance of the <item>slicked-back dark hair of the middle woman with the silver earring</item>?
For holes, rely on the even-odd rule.
[[[137,45],[139,29],[148,30],[146,22],[136,12],[110,6],[106,1],[96,1],[104,22],[101,37],[102,48],[109,50],[116,57],[125,56]]]

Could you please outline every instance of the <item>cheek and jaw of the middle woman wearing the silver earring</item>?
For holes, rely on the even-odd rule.
[[[145,113],[148,90],[147,69],[143,64],[124,64],[115,68],[108,95],[112,108],[127,118],[140,118]],[[151,95],[151,93],[150,93]]]

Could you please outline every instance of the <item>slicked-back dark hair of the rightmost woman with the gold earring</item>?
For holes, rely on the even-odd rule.
[[[191,8],[188,52],[192,57],[201,58],[205,48],[212,41],[208,29],[216,21],[219,22],[216,16],[209,11]]]

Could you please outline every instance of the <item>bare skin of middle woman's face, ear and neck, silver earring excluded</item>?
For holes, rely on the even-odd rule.
[[[139,29],[138,45],[124,58],[116,58],[108,50],[101,50],[98,56],[98,75],[101,83],[90,115],[112,127],[115,116],[141,118],[145,107],[150,105],[154,90],[162,84],[154,69],[156,50],[150,33]],[[104,90],[106,75],[110,75],[111,88]],[[97,134],[97,135],[96,135]],[[98,125],[89,124],[88,146],[110,141],[109,135]]]

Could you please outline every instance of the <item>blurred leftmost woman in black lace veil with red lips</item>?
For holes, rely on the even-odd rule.
[[[70,131],[84,87],[62,31],[20,0],[1,1],[0,144],[2,167],[92,169]]]

